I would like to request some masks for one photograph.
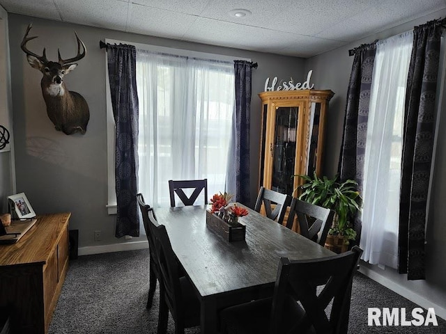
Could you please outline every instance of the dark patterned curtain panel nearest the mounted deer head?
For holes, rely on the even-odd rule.
[[[139,236],[137,205],[138,118],[136,49],[107,45],[110,92],[116,124],[116,237]]]

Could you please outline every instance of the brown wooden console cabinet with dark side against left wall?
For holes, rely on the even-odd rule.
[[[47,333],[68,270],[70,213],[37,218],[17,243],[0,245],[0,309],[12,333]]]

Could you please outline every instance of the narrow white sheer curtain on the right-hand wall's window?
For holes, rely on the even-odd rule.
[[[378,42],[364,157],[362,260],[395,269],[398,264],[401,136],[412,45],[412,31]]]

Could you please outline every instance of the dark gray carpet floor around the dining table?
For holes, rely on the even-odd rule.
[[[157,290],[153,307],[147,310],[147,292],[148,249],[86,255],[71,260],[49,334],[156,333],[159,294]],[[446,321],[440,317],[437,317],[438,327],[369,327],[369,307],[404,307],[410,315],[417,305],[357,273],[353,280],[349,334],[446,333]],[[168,333],[174,333],[170,318]],[[190,328],[185,333],[200,333],[200,329]]]

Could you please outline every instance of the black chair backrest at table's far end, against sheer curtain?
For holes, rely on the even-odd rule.
[[[183,189],[194,189],[187,196]],[[208,179],[203,180],[169,180],[170,206],[175,206],[175,193],[184,205],[194,205],[201,191],[204,190],[204,204],[208,204]]]

